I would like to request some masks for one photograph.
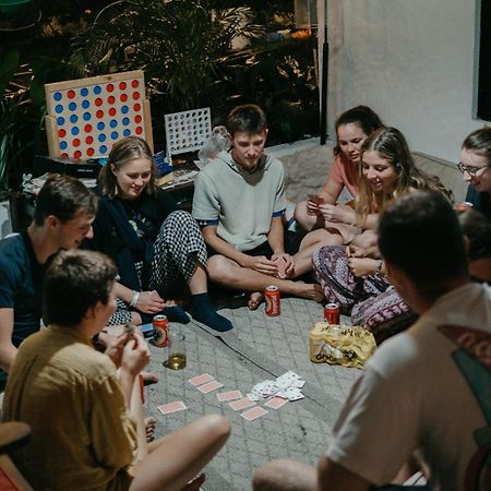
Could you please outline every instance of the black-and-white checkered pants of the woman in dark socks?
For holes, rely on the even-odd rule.
[[[206,246],[196,220],[188,212],[172,212],[161,224],[154,243],[149,284],[141,284],[140,289],[157,290],[161,297],[172,298],[176,285],[188,285],[196,265],[205,267],[206,263]],[[142,263],[135,264],[140,278],[142,266]],[[116,302],[117,309],[108,325],[130,322],[130,306],[120,298]]]

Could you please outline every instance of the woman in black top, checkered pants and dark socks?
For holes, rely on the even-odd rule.
[[[189,322],[185,312],[169,300],[184,286],[191,292],[190,312],[195,320],[216,331],[231,330],[230,321],[209,303],[206,247],[200,228],[157,187],[144,140],[129,136],[113,145],[99,173],[98,194],[89,247],[118,266],[118,309],[110,323],[146,323],[158,313]]]

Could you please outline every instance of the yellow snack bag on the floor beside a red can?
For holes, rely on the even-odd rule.
[[[318,322],[310,332],[310,360],[314,363],[361,368],[375,348],[373,334],[363,327]]]

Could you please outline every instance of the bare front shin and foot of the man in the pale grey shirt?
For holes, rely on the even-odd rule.
[[[235,261],[216,254],[208,261],[208,274],[212,280],[229,288],[249,291],[264,291],[270,285],[278,287],[279,291],[295,297],[313,299],[321,302],[323,294],[320,285],[310,285],[291,279],[279,279],[248,267],[242,267]]]

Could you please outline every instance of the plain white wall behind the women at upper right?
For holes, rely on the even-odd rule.
[[[483,123],[472,119],[475,1],[328,0],[330,137],[339,112],[366,104],[411,149],[458,161]]]

